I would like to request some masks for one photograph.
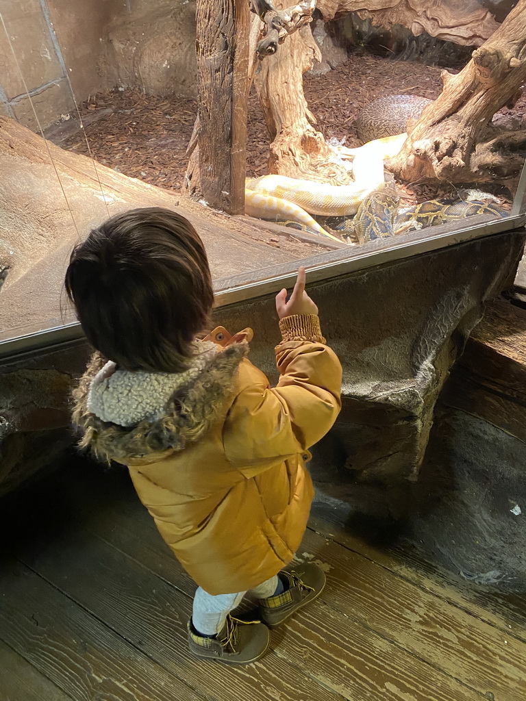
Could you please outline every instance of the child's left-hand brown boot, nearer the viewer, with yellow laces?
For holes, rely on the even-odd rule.
[[[269,643],[269,629],[259,620],[245,622],[228,615],[222,632],[216,638],[201,637],[191,620],[188,622],[190,652],[198,658],[249,665],[263,657]]]

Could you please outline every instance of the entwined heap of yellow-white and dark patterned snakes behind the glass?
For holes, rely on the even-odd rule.
[[[357,238],[359,243],[471,215],[504,217],[502,207],[462,199],[429,200],[398,212],[396,188],[393,182],[385,182],[384,159],[398,154],[406,137],[400,129],[418,118],[429,103],[422,97],[405,95],[375,100],[357,120],[360,137],[372,140],[358,149],[339,149],[340,157],[353,158],[351,184],[334,186],[266,175],[247,181],[246,213],[341,241],[327,230],[331,229],[346,240]]]

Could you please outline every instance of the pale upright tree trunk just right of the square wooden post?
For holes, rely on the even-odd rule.
[[[303,74],[314,60],[321,60],[321,53],[307,25],[262,61],[255,85],[272,139],[269,172],[343,185],[349,173],[313,127],[316,119],[303,93]]]

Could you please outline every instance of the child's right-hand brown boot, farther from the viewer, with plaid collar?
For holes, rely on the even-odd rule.
[[[288,589],[276,597],[259,601],[259,615],[269,628],[276,628],[303,608],[317,599],[325,589],[325,572],[318,565],[304,564],[295,570],[280,572],[282,580],[286,580]]]

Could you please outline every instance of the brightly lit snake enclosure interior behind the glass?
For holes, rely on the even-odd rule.
[[[229,217],[207,205],[198,177],[196,115],[208,86],[194,1],[3,0],[4,338],[67,320],[60,293],[72,245],[132,207],[187,215],[215,280],[432,238],[471,215],[508,217],[526,151],[525,41],[516,55],[499,47],[525,29],[525,0],[365,5],[300,2],[313,22],[257,60],[265,25],[250,15],[252,217]]]

